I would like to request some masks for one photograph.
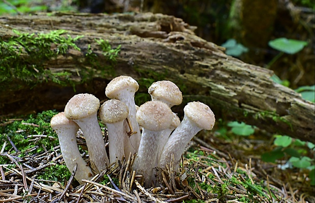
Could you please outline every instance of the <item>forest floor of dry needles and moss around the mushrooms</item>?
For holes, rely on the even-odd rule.
[[[268,137],[268,134],[255,127],[250,128],[242,123],[237,125],[235,122],[229,123],[228,127],[222,121],[215,131],[202,132],[193,139],[183,155],[178,173],[156,169],[163,177],[158,180],[160,184],[157,187],[142,187],[141,176],[131,170],[133,157],[115,163],[110,170],[96,175],[90,181],[84,181],[84,185],[79,185],[74,180],[73,173],[65,166],[57,136],[49,126],[51,117],[56,113],[44,111],[23,118],[2,120],[0,202],[315,200],[314,186],[311,186],[312,177],[305,168],[279,167],[288,162],[288,157],[279,157],[274,163],[261,159],[261,155],[268,152],[272,144],[280,142],[283,149],[288,148],[292,142],[289,143],[287,137],[270,139],[271,136]],[[101,127],[106,135],[104,125]],[[240,131],[240,128],[244,130]],[[247,135],[249,131],[250,135]],[[235,133],[242,135],[237,136]],[[80,133],[77,138],[79,148],[88,163],[84,138]],[[107,136],[105,141],[106,138]],[[313,148],[302,149],[306,152],[299,152],[305,157],[314,156]]]

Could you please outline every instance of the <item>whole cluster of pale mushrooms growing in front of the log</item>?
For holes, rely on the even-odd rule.
[[[199,131],[213,128],[214,114],[201,102],[188,103],[180,122],[171,110],[182,102],[182,93],[174,83],[168,80],[153,83],[148,89],[151,101],[140,107],[134,100],[138,88],[132,77],[118,76],[107,85],[105,94],[110,99],[101,106],[95,96],[77,94],[69,100],[64,112],[52,117],[51,128],[58,135],[65,164],[70,171],[77,165],[75,178],[79,183],[133,154],[136,155],[133,170],[143,176],[145,187],[149,187],[154,182],[154,168],[172,166],[173,171],[178,171],[188,142]],[[107,127],[109,155],[98,115]],[[76,143],[79,128],[86,140],[89,166]]]

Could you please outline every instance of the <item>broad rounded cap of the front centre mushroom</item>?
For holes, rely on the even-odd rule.
[[[136,118],[144,129],[161,131],[169,128],[172,124],[173,112],[163,102],[148,101],[139,107]]]

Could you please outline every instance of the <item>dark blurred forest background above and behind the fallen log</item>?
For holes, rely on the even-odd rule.
[[[3,0],[0,15],[153,12],[182,18],[226,53],[272,69],[292,89],[314,89],[313,0]],[[313,101],[314,91],[306,97]]]

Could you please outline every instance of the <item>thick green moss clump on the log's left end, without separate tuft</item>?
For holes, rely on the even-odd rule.
[[[66,30],[37,34],[21,33],[17,30],[13,32],[17,36],[11,37],[7,42],[0,39],[0,82],[19,79],[34,83],[48,78],[55,79],[56,75],[45,68],[45,62],[57,55],[66,54],[70,48],[80,50],[75,42],[82,36],[64,36]]]

